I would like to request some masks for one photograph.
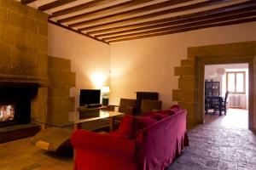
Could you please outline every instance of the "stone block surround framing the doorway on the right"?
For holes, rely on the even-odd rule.
[[[172,90],[172,100],[188,110],[188,127],[203,123],[202,101],[204,95],[201,66],[206,64],[249,63],[253,69],[249,82],[252,98],[249,99],[249,127],[256,129],[256,42],[236,42],[188,48],[188,59],[181,60],[181,66],[174,68],[179,76],[178,89]],[[201,60],[201,61],[199,61]],[[203,62],[199,64],[199,62]]]

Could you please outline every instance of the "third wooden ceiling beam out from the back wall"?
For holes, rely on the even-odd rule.
[[[206,15],[206,16],[200,16],[200,17],[193,17],[193,18],[188,18],[186,20],[176,20],[176,21],[171,21],[171,22],[166,22],[158,25],[153,25],[153,26],[144,26],[144,27],[139,27],[131,30],[125,30],[125,31],[115,31],[115,32],[110,32],[110,33],[105,33],[105,34],[99,34],[95,35],[94,37],[97,38],[102,38],[102,37],[113,37],[115,35],[119,34],[128,34],[131,32],[135,31],[147,31],[147,30],[155,30],[159,29],[162,27],[170,27],[170,26],[177,26],[177,25],[183,25],[186,23],[199,23],[201,24],[201,20],[205,20],[204,22],[210,24],[211,22],[217,21],[224,21],[224,20],[234,20],[234,19],[239,19],[239,18],[244,18],[244,17],[249,17],[256,15],[256,8],[252,8],[251,10],[248,8],[243,8],[233,10],[230,12],[224,12],[222,14],[211,14],[211,15]]]

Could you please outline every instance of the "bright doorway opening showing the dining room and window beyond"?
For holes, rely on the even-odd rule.
[[[248,128],[248,64],[205,65],[204,75],[204,122],[214,127]],[[217,108],[220,102],[221,111]]]

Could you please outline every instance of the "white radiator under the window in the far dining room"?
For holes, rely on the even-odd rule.
[[[246,108],[247,96],[245,94],[230,94],[228,102],[229,107]]]

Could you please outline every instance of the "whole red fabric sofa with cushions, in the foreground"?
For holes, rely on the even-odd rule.
[[[143,118],[127,116],[119,130],[110,134],[79,129],[71,138],[75,150],[74,169],[164,170],[183,147],[189,145],[186,115],[186,110],[174,108],[148,113]],[[152,118],[156,121],[148,121]],[[136,119],[140,120],[140,126],[135,126]]]

